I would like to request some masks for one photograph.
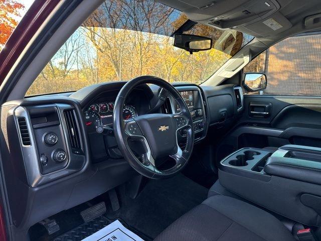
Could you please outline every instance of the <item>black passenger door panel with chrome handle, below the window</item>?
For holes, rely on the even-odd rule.
[[[321,97],[244,95],[244,105],[237,126],[218,146],[218,160],[243,147],[321,147]]]

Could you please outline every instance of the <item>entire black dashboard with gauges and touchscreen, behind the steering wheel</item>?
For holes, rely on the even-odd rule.
[[[15,190],[8,196],[17,226],[28,229],[137,176],[122,158],[114,136],[96,132],[100,125],[112,128],[114,101],[125,83],[99,83],[73,93],[3,104],[5,130],[1,152],[5,173],[14,174],[6,176],[6,181]],[[233,85],[173,85],[191,112],[196,143],[206,138],[210,126],[222,128],[232,123],[242,110]],[[154,85],[137,87],[126,100],[123,118],[151,110],[180,112],[172,96],[153,109],[159,101],[159,92],[159,87]],[[242,97],[241,89],[239,94]],[[178,142],[185,145],[184,129],[178,132]]]

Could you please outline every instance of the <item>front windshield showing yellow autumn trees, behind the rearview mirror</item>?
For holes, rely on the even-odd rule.
[[[185,33],[210,37],[213,47],[190,54],[174,47],[169,37],[187,20],[153,0],[107,0],[53,56],[27,95],[75,91],[140,75],[200,84],[253,38],[196,24]]]

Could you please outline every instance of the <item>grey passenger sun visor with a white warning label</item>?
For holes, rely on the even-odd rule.
[[[275,13],[261,22],[251,24],[243,28],[238,28],[236,30],[254,37],[266,37],[277,35],[291,27],[292,24],[290,21],[280,13]]]

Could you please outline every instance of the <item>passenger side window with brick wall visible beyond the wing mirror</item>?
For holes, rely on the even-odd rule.
[[[243,72],[266,74],[266,89],[255,94],[320,96],[320,46],[321,34],[287,38],[257,56]]]

